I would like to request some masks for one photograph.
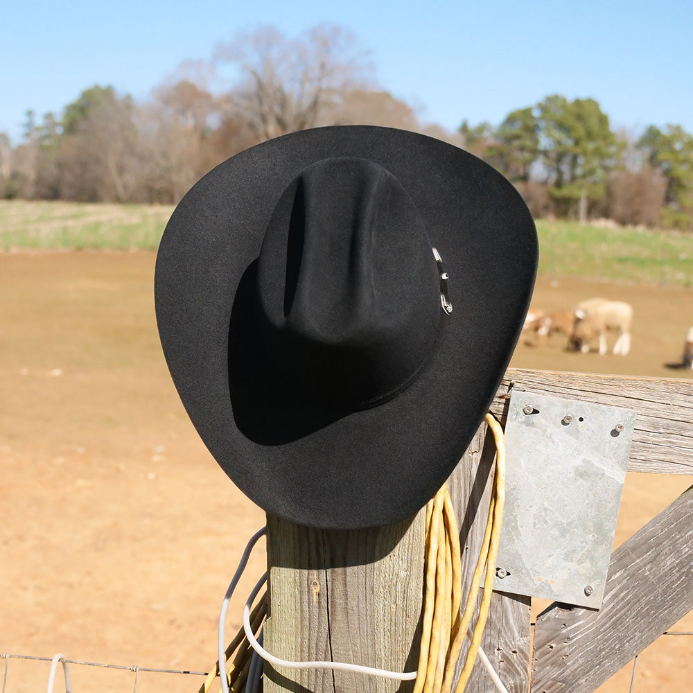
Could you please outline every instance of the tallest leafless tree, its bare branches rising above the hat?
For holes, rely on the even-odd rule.
[[[218,46],[213,62],[234,69],[226,107],[258,141],[314,127],[369,71],[351,33],[328,25],[298,40],[267,26]]]

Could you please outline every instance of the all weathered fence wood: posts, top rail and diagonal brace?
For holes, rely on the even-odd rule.
[[[635,410],[629,471],[693,474],[691,380],[509,369],[491,407],[501,420],[514,389]],[[489,502],[493,446],[488,442],[484,424],[448,480],[466,582]],[[267,649],[286,659],[416,669],[423,512],[398,525],[355,532],[267,520]],[[689,490],[622,545],[612,556],[600,611],[550,606],[536,624],[533,664],[529,597],[494,592],[482,648],[507,690],[589,693],[690,611],[692,520]],[[265,676],[266,693],[412,690],[411,683],[326,670],[279,671],[267,664]],[[491,690],[477,662],[466,691]]]

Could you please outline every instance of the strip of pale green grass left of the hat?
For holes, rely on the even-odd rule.
[[[0,249],[154,250],[173,207],[0,200]]]

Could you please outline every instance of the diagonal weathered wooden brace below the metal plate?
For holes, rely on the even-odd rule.
[[[693,486],[613,553],[599,611],[538,617],[532,691],[592,693],[692,608]]]

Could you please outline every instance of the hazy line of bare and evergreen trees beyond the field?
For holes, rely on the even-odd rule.
[[[316,26],[237,35],[188,62],[144,103],[95,85],[62,114],[28,111],[21,141],[0,133],[4,198],[177,202],[210,168],[272,137],[368,123],[430,134],[470,151],[518,188],[536,217],[693,230],[693,137],[680,125],[614,132],[592,98],[559,94],[498,126],[421,123],[371,78],[355,38]]]

